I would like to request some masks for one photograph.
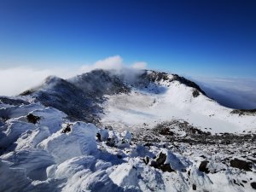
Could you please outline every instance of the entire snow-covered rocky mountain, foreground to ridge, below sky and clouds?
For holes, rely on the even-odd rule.
[[[255,125],[177,75],[49,77],[0,97],[0,191],[255,191]]]

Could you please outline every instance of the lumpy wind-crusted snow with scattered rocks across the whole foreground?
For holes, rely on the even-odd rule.
[[[129,131],[71,122],[65,113],[40,104],[3,106],[1,112],[6,114],[0,128],[4,192],[255,191],[253,144],[230,145],[230,154],[226,148],[218,149],[218,143],[207,148],[189,143],[149,145],[134,142]],[[241,153],[245,149],[248,152]],[[232,153],[245,165],[230,166]],[[207,164],[202,168],[204,160]]]

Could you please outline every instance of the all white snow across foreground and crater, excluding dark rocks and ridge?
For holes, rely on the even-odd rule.
[[[164,137],[148,145],[139,141],[136,133],[147,134],[147,129],[172,119],[212,128],[207,129],[212,133],[253,134],[255,116],[231,114],[232,109],[202,94],[194,97],[193,90],[162,80],[143,89],[133,87],[129,94],[107,96],[97,126],[71,121],[67,114],[34,103],[29,96],[22,97],[29,104],[1,103],[0,190],[254,191],[250,183],[256,182],[255,163],[252,171],[230,166],[234,157],[255,162],[253,137],[228,145],[168,143]],[[30,122],[28,114],[38,121]],[[177,125],[172,131],[177,137],[187,134]],[[170,172],[153,166],[162,154],[166,157],[162,164],[170,166]],[[204,160],[208,172],[199,168]]]

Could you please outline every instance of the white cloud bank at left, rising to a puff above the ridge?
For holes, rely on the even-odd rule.
[[[62,79],[72,78],[81,73],[87,73],[96,68],[102,69],[144,69],[147,63],[138,61],[125,64],[119,55],[110,56],[106,59],[96,61],[91,65],[81,67],[52,67],[47,69],[37,69],[33,67],[11,67],[0,68],[0,96],[15,96],[38,84],[41,84],[49,75],[55,75]]]

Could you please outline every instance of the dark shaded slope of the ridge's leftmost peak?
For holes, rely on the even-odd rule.
[[[96,113],[101,112],[96,98],[84,93],[74,84],[57,77],[49,77],[44,84],[27,90],[21,96],[32,96],[46,107],[57,108],[67,113],[70,119],[96,122]],[[97,102],[96,102],[97,101]]]

